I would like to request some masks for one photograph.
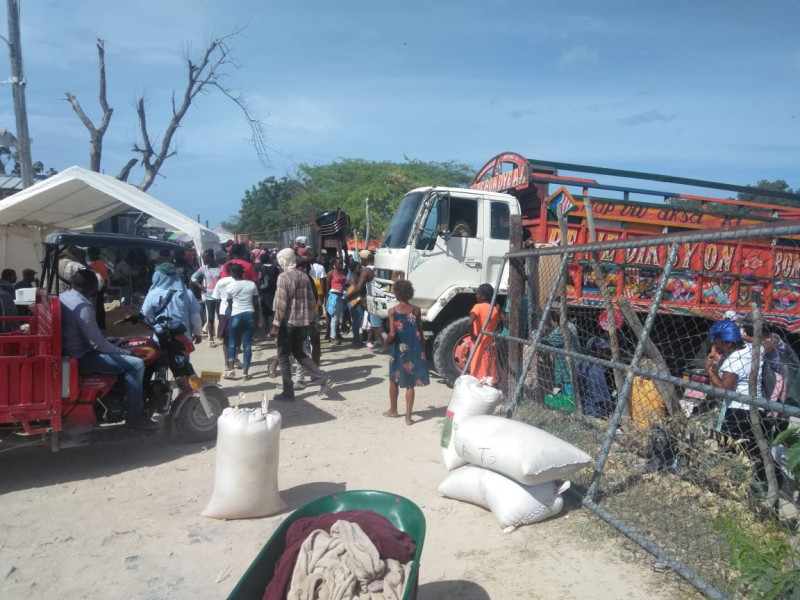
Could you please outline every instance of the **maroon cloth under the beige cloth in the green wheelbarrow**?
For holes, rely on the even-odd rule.
[[[275,563],[275,572],[264,591],[264,600],[282,600],[286,597],[297,555],[306,538],[316,529],[330,533],[331,526],[341,520],[358,524],[375,544],[381,558],[391,558],[403,564],[414,558],[417,545],[411,536],[397,529],[389,519],[375,511],[345,510],[304,517],[292,523],[286,530],[285,550]]]

